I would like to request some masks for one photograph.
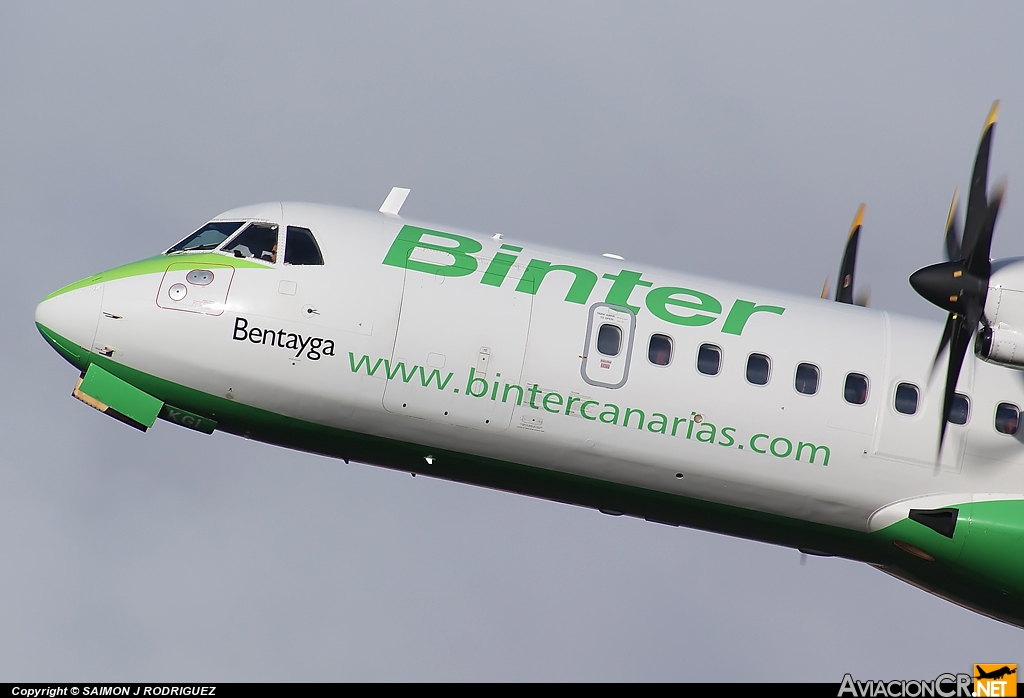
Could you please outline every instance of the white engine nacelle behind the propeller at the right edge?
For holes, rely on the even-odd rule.
[[[975,339],[978,358],[1024,368],[1024,257],[992,262],[985,323]]]

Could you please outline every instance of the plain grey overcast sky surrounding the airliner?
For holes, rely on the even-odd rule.
[[[0,4],[0,681],[925,679],[1024,635],[865,565],[70,397],[50,291],[276,200],[941,319],[991,101],[1024,254],[1020,3]],[[938,337],[936,337],[938,341]]]

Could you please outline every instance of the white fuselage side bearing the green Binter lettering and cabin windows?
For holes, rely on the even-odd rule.
[[[451,229],[479,244],[475,270],[399,268],[382,261],[399,230],[418,224],[377,213],[274,204],[220,218],[309,228],[325,264],[237,268],[226,300],[202,311],[155,302],[161,274],[106,281],[96,351],[240,404],[419,444],[424,459],[472,453],[858,531],[913,497],[1024,492],[1024,447],[993,428],[997,403],[1024,405],[1024,383],[1008,368],[966,363],[958,390],[970,419],[949,427],[936,466],[936,323]],[[502,245],[521,251],[506,249],[515,259],[505,275],[481,282]],[[430,249],[410,259],[424,269],[453,262]],[[530,260],[592,271],[596,285],[585,302],[566,301],[577,276],[554,270],[530,293]],[[640,282],[621,285],[628,296],[606,308],[607,276],[623,270]],[[726,329],[737,302],[784,311],[749,314],[735,334]],[[688,323],[662,319],[651,304]],[[620,313],[624,351],[602,367],[595,322],[624,305],[636,309]],[[671,338],[668,365],[648,359],[652,335]],[[289,336],[292,348],[279,346]],[[721,350],[717,376],[696,368],[701,344]],[[770,359],[767,385],[745,378],[752,352]],[[801,362],[819,369],[814,395],[795,389]],[[864,404],[844,399],[851,372],[867,377]],[[901,382],[920,388],[915,415],[893,407]]]

